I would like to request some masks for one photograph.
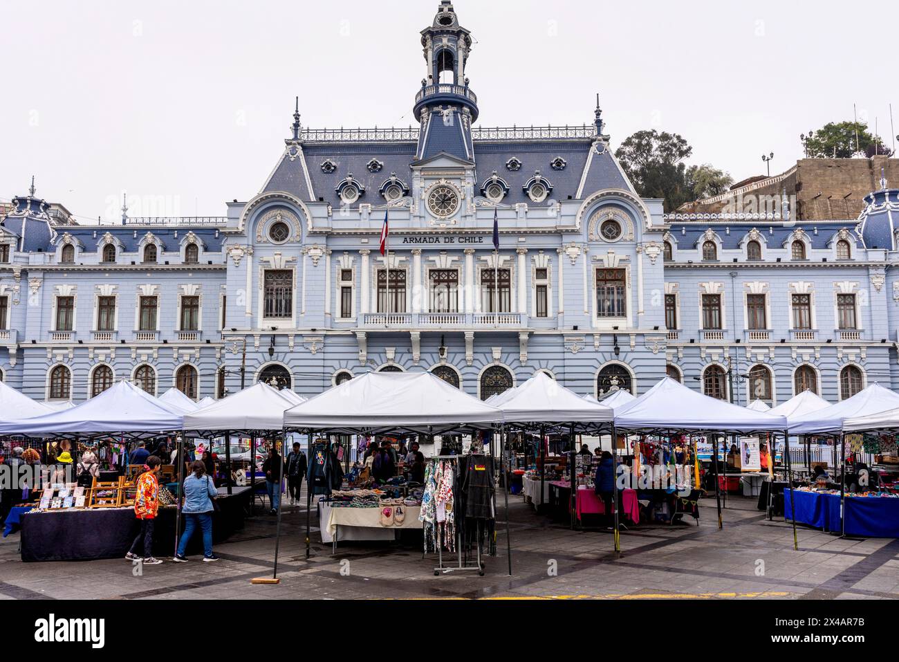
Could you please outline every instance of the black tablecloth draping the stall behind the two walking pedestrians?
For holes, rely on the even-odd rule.
[[[245,507],[250,488],[233,488],[230,496],[219,490],[219,511],[212,516],[213,543],[224,541],[244,528]],[[174,555],[174,508],[160,508],[156,516],[153,553]],[[182,518],[182,531],[184,523]],[[58,561],[119,559],[125,556],[140,531],[133,508],[90,508],[56,513],[22,515],[22,560]],[[202,552],[197,533],[188,545],[188,554]]]

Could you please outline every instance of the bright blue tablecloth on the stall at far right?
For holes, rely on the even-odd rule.
[[[841,532],[840,495],[794,490],[796,521],[830,532]],[[791,516],[790,490],[784,490],[784,512]],[[899,538],[899,498],[846,497],[847,535]]]

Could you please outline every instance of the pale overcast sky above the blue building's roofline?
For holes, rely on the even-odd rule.
[[[125,191],[134,216],[224,215],[270,174],[295,95],[305,126],[407,126],[438,5],[3,0],[0,200],[35,174],[81,222],[116,218]],[[771,151],[788,168],[852,103],[887,145],[899,132],[895,2],[454,5],[480,126],[582,124],[599,92],[613,148],[678,132],[737,180]]]

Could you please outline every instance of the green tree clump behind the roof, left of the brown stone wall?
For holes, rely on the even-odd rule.
[[[684,202],[726,191],[733,179],[708,164],[684,164],[693,148],[681,135],[656,130],[637,131],[616,150],[636,192],[646,198],[663,198],[664,210],[672,211]]]

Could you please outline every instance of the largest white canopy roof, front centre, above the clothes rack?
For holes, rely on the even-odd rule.
[[[286,428],[342,434],[441,434],[502,422],[496,407],[424,371],[367,372],[284,412]]]

